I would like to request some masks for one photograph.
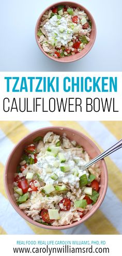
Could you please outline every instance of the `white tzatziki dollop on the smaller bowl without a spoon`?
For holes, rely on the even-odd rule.
[[[60,23],[58,25],[58,23]],[[68,22],[65,17],[62,17],[60,20],[57,19],[57,16],[53,16],[47,23],[44,24],[45,32],[47,33],[49,43],[53,40],[57,40],[56,43],[66,46],[68,42],[72,40],[73,31],[68,27]],[[60,31],[64,31],[61,33]]]

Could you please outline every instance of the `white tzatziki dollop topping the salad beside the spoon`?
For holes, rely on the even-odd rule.
[[[58,156],[53,157],[53,156],[47,156],[47,155],[43,155],[41,157],[38,158],[38,161],[36,163],[37,167],[41,169],[41,179],[43,180],[43,182],[48,185],[48,184],[58,184],[59,182],[67,184],[69,183],[71,186],[74,186],[76,188],[79,188],[79,180],[80,177],[83,174],[86,174],[87,178],[88,178],[88,171],[87,170],[82,170],[81,166],[83,164],[85,164],[86,162],[82,159],[79,158],[79,166],[77,163],[75,163],[75,161],[73,161],[73,155],[72,153],[69,152],[65,152],[63,149],[60,150],[60,152],[62,152],[65,156],[66,162],[65,163],[59,163],[59,167],[55,168],[54,167],[54,162],[58,161]],[[60,170],[61,166],[64,165],[69,165],[70,171],[69,172],[62,172]],[[52,169],[52,173],[47,173],[46,172],[46,168],[51,168]],[[73,175],[74,170],[73,169],[77,169],[79,176],[75,176]],[[55,173],[58,176],[57,180],[53,180],[51,178],[52,174]]]

